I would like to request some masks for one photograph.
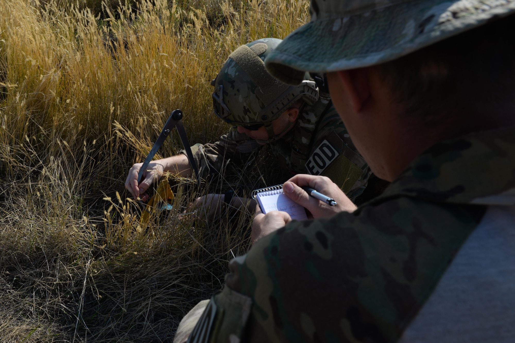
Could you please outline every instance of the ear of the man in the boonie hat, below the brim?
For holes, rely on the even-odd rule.
[[[367,100],[370,99],[368,72],[368,68],[358,68],[337,72],[344,84],[345,91],[349,95],[352,108],[356,113],[361,112]]]

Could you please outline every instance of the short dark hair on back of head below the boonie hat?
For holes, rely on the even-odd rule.
[[[379,65],[403,114],[425,124],[515,109],[515,15]],[[509,113],[511,112],[511,113]],[[456,118],[455,118],[456,119]]]

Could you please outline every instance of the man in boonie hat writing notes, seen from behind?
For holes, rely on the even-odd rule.
[[[392,183],[323,218],[299,186],[342,199],[330,182],[286,182],[316,219],[256,215],[268,234],[230,262],[190,342],[513,341],[515,2],[310,10],[265,65],[290,84],[327,73],[355,146]]]

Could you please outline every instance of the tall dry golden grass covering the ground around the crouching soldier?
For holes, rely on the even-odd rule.
[[[127,170],[172,109],[190,142],[224,133],[209,85],[224,60],[306,20],[305,0],[2,1],[0,341],[170,341],[248,249],[250,214],[181,216],[196,195],[171,177],[174,209],[142,228]],[[180,149],[174,133],[160,154]],[[274,182],[266,157],[205,192]]]

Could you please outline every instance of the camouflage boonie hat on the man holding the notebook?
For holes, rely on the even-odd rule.
[[[311,0],[311,22],[286,37],[265,64],[279,80],[298,84],[305,71],[384,63],[514,9],[514,0]]]

